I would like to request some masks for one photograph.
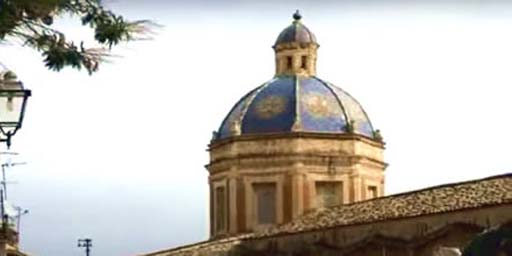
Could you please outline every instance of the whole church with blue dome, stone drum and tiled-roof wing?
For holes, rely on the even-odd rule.
[[[512,223],[512,174],[384,195],[383,138],[316,75],[318,48],[296,12],[273,46],[275,76],[209,144],[210,239],[145,256],[458,255]]]

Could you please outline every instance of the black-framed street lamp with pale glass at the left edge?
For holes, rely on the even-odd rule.
[[[11,137],[21,128],[31,91],[16,81],[14,73],[0,73],[0,142],[11,146]]]

